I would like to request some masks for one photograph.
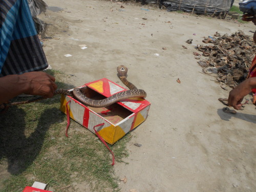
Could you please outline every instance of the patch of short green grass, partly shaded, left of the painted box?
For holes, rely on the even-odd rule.
[[[56,79],[62,73],[51,71]],[[70,85],[57,82],[58,88]],[[71,120],[65,136],[66,115],[59,111],[59,96],[34,103],[12,106],[0,116],[0,162],[8,162],[11,176],[1,191],[22,191],[34,181],[48,183],[54,191],[75,191],[82,183],[91,191],[118,191],[118,178],[111,165],[112,156],[97,137]],[[117,162],[129,153],[127,134],[111,145]]]

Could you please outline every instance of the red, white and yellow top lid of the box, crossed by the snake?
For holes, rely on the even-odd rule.
[[[115,82],[113,82],[109,79],[106,79],[106,78],[99,79],[99,80],[96,80],[93,82],[89,82],[89,83],[86,83],[85,85],[105,97],[110,97],[116,93],[127,90],[127,89],[124,89],[123,87],[119,86]],[[147,105],[150,104],[150,102],[148,102],[147,100],[145,100],[143,98],[125,99],[125,100],[123,100],[121,102],[117,102],[117,103],[134,113],[141,111]]]

